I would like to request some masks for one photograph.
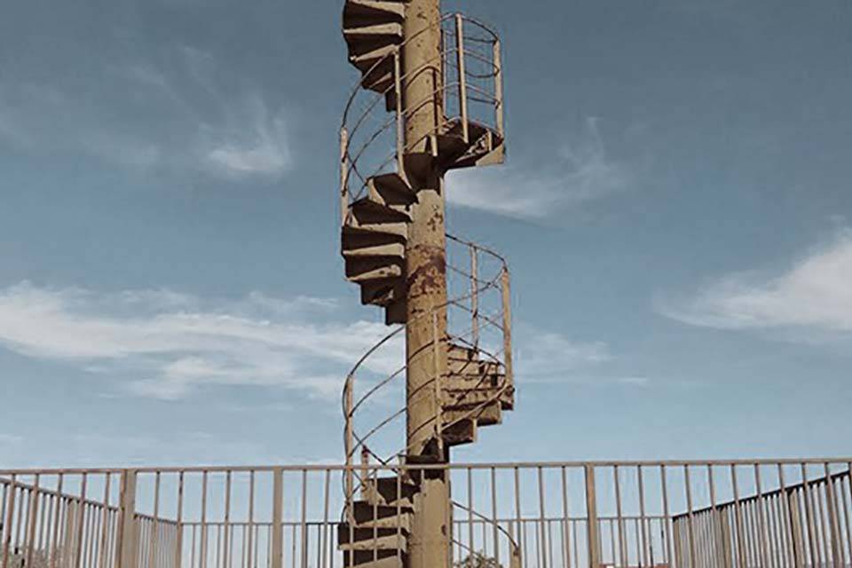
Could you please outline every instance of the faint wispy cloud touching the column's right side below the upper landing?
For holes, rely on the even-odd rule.
[[[597,119],[589,118],[580,138],[546,156],[548,162],[514,163],[454,173],[449,201],[507,217],[537,219],[604,198],[629,185],[627,166],[606,152]]]

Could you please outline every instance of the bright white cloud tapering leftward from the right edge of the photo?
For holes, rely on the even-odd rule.
[[[700,327],[852,332],[852,231],[776,276],[725,276],[685,300],[659,300],[658,311]],[[813,338],[813,337],[811,337]]]

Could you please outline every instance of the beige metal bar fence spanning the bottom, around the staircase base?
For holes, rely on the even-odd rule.
[[[453,465],[454,562],[508,566],[517,545],[530,568],[849,566],[850,462]],[[345,473],[0,470],[0,568],[335,568]]]

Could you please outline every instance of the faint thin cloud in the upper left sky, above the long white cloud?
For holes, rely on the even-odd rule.
[[[60,78],[0,78],[0,143],[217,177],[280,177],[292,168],[289,114],[249,82],[220,88],[208,53],[175,46],[168,66],[103,65],[97,91]]]

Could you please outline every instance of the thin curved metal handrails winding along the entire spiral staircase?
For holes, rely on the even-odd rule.
[[[406,45],[410,42],[413,42],[422,34],[434,30],[435,28],[439,28],[442,31],[442,34],[449,34],[449,31],[446,30],[445,24],[448,21],[454,21],[455,29],[454,29],[454,42],[447,43],[442,42],[442,47],[438,56],[430,58],[426,61],[423,61],[421,65],[415,67],[414,69],[406,70],[406,73],[403,74],[400,69],[400,58],[401,53],[406,47]],[[468,24],[468,26],[464,26],[463,24]],[[473,29],[474,32],[470,33],[469,30]],[[482,45],[490,45],[491,46],[491,54],[487,53],[487,48],[479,48],[479,49],[465,49],[464,43],[475,43],[477,46]],[[481,50],[481,51],[480,51]],[[468,69],[465,65],[465,59],[469,58],[470,66],[474,67],[474,69]],[[362,110],[360,110],[360,114],[354,114],[354,109],[356,108],[356,102],[358,101],[359,94],[362,92],[362,88],[365,88],[367,85],[367,79],[370,77],[376,77],[377,72],[380,71],[382,67],[387,67],[388,65],[392,69],[390,84],[383,89],[383,91],[373,91],[371,95],[373,99],[368,101],[368,104],[362,106]],[[381,73],[385,73],[386,71],[382,70]],[[422,100],[416,101],[406,101],[405,108],[402,105],[402,99],[404,98],[403,84],[411,81],[414,77],[417,77],[423,73],[436,73],[440,78],[436,81],[436,88],[427,93]],[[345,110],[343,113],[343,122],[341,127],[341,204],[343,210],[341,211],[343,217],[343,223],[345,224],[348,220],[347,216],[352,215],[351,203],[353,201],[357,201],[361,199],[367,190],[368,181],[371,177],[375,177],[377,174],[383,172],[390,166],[390,164],[394,161],[398,162],[398,174],[402,176],[404,179],[406,178],[406,161],[405,157],[407,154],[410,154],[414,151],[415,148],[422,147],[424,141],[429,141],[435,139],[436,136],[440,135],[442,132],[446,131],[446,126],[450,124],[452,121],[456,120],[456,116],[449,117],[446,115],[446,108],[454,108],[454,103],[452,101],[458,100],[458,111],[460,113],[460,117],[462,120],[463,131],[464,131],[464,139],[465,142],[468,142],[468,124],[475,122],[474,120],[470,120],[468,114],[468,103],[478,103],[480,105],[485,105],[488,108],[491,108],[493,112],[493,124],[484,124],[486,128],[489,130],[496,132],[497,137],[500,139],[503,137],[502,130],[502,87],[501,87],[501,63],[500,63],[500,39],[497,34],[493,31],[493,29],[486,26],[484,23],[478,20],[474,20],[472,18],[463,16],[460,13],[449,13],[443,15],[438,22],[432,24],[428,28],[423,28],[418,31],[413,36],[406,37],[406,39],[394,46],[389,52],[382,58],[375,61],[375,63],[370,66],[366,71],[362,70],[361,77],[359,79],[358,84],[352,90],[349,99],[347,99]],[[455,80],[451,80],[449,77],[455,75]],[[493,91],[489,91],[483,85],[486,83],[471,83],[468,84],[468,79],[472,79],[474,81],[485,81],[488,79],[493,79]],[[384,80],[384,79],[382,79]],[[366,130],[368,123],[373,123],[375,120],[375,110],[376,108],[384,101],[386,103],[391,103],[393,99],[390,99],[390,93],[396,94],[396,109],[395,112],[388,119],[383,119],[376,121],[375,125],[376,130]],[[418,138],[414,141],[404,140],[403,133],[405,130],[404,124],[405,122],[414,114],[421,111],[422,106],[428,105],[438,105],[441,108],[440,116],[433,127],[433,130],[424,134],[421,138]],[[478,109],[484,108],[483,106],[478,106]],[[388,109],[391,110],[390,108]],[[391,111],[393,112],[393,111]],[[476,116],[479,116],[479,111],[474,113]],[[490,122],[491,119],[486,119],[485,122]],[[390,129],[392,129],[396,125],[396,140],[392,151],[389,152],[387,157],[384,157],[380,152],[374,152],[376,145],[376,141],[385,136]],[[364,133],[366,131],[366,134]],[[490,140],[490,138],[489,138]],[[475,140],[476,142],[477,140]],[[427,146],[428,147],[428,146]],[[491,146],[489,142],[489,146],[487,149],[490,151]],[[377,155],[374,155],[377,154]],[[366,157],[369,158],[369,166],[364,167],[363,162],[367,162]],[[378,158],[376,160],[376,158]],[[378,166],[375,166],[373,161],[378,163]],[[363,172],[369,171],[370,174],[365,176]],[[350,191],[350,181],[358,180],[356,183],[360,184],[360,187],[357,191]],[[423,350],[428,350],[434,348],[436,345],[441,343],[454,343],[461,345],[465,348],[471,349],[475,353],[475,358],[471,360],[469,363],[465,363],[461,367],[461,372],[464,372],[464,368],[470,364],[477,364],[479,361],[487,361],[490,363],[494,363],[498,366],[498,368],[503,369],[503,376],[506,377],[499,389],[494,391],[489,391],[488,397],[485,398],[482,402],[478,402],[476,404],[471,404],[470,408],[467,412],[462,412],[456,414],[452,422],[445,422],[442,408],[443,405],[438,405],[437,413],[432,416],[429,420],[423,422],[422,424],[417,425],[417,429],[422,428],[435,428],[436,433],[440,436],[440,432],[442,428],[451,428],[454,424],[459,422],[469,420],[470,418],[474,418],[477,414],[481,414],[485,408],[489,405],[492,405],[495,401],[501,400],[505,393],[509,389],[513,389],[512,384],[512,375],[511,375],[511,352],[508,347],[509,345],[509,306],[508,306],[508,288],[509,288],[509,267],[505,261],[505,259],[499,254],[495,253],[493,250],[489,248],[482,247],[477,245],[476,243],[470,241],[464,241],[453,235],[446,235],[447,241],[453,241],[455,243],[460,244],[461,246],[469,248],[471,255],[474,258],[474,264],[471,268],[470,272],[466,272],[464,270],[458,269],[451,264],[447,264],[448,271],[453,271],[454,273],[460,275],[466,281],[469,280],[470,288],[469,291],[465,294],[461,294],[458,296],[454,296],[452,298],[446,299],[444,304],[434,306],[430,311],[422,312],[417,314],[412,319],[410,319],[407,324],[420,323],[424,318],[436,318],[438,314],[442,311],[448,311],[450,309],[461,309],[464,313],[464,317],[469,317],[471,326],[469,329],[464,329],[460,335],[454,335],[446,331],[446,334],[443,336],[438,336],[437,334],[432,337],[432,340],[423,346]],[[490,256],[497,261],[497,268],[493,274],[490,274],[485,277],[481,277],[477,271],[477,256],[484,255]],[[485,293],[491,290],[500,290],[502,292],[501,301],[503,308],[501,310],[501,314],[503,317],[502,323],[498,321],[499,315],[496,317],[492,317],[488,313],[479,309],[479,296],[485,296]],[[467,303],[470,303],[470,307],[468,307]],[[479,343],[479,335],[482,329],[491,328],[502,333],[503,338],[503,348],[502,350],[491,351],[489,349],[485,349]],[[394,457],[405,457],[408,453],[409,448],[406,447],[404,450],[397,452],[395,454],[390,455],[388,458],[383,459],[380,455],[376,454],[374,449],[370,446],[367,446],[367,442],[372,442],[374,437],[378,434],[378,432],[382,431],[390,422],[397,420],[400,416],[406,413],[406,408],[402,408],[397,412],[391,413],[386,416],[382,421],[378,424],[375,424],[370,430],[366,433],[361,433],[356,430],[355,427],[355,417],[356,414],[361,411],[368,402],[375,399],[379,392],[388,388],[390,383],[394,383],[396,379],[400,375],[404,375],[408,362],[411,360],[410,358],[416,354],[409,353],[406,358],[406,364],[402,367],[394,370],[390,375],[385,376],[382,380],[378,381],[370,388],[366,390],[363,394],[359,395],[359,398],[355,400],[354,397],[354,389],[356,386],[356,381],[359,375],[359,372],[362,371],[365,367],[367,367],[367,362],[375,357],[377,351],[383,348],[383,346],[388,345],[394,338],[397,338],[398,335],[402,333],[402,331],[406,329],[406,326],[399,326],[396,329],[392,330],[388,335],[383,337],[381,341],[376,343],[373,347],[370,348],[352,367],[350,373],[347,375],[346,384],[343,390],[343,414],[346,422],[346,428],[344,431],[344,445],[346,447],[346,462],[347,465],[351,466],[353,458],[355,455],[361,452],[364,459],[366,459],[367,466],[369,460],[371,458],[375,458],[376,461],[383,464],[383,466],[388,466],[390,460]],[[470,341],[469,341],[469,338]],[[375,370],[375,369],[374,369]],[[441,380],[444,377],[442,373],[436,373],[436,376],[432,377],[430,381],[427,381],[421,388],[430,388],[430,385],[435,386],[438,390],[441,387]],[[479,378],[477,383],[470,385],[466,384],[462,389],[454,389],[461,390],[458,395],[457,400],[463,400],[469,392],[477,390],[485,381],[488,380],[488,377],[483,375]],[[410,397],[412,393],[407,393]],[[440,396],[440,395],[439,395]],[[467,406],[467,405],[466,405]],[[366,469],[365,469],[366,471]],[[356,472],[356,469],[349,467],[347,469],[347,474],[343,478],[344,490],[346,493],[346,502],[347,507],[344,509],[343,513],[346,511],[351,511],[351,503],[354,499],[354,494],[356,491],[362,489],[367,484],[367,477],[362,477],[362,475],[367,475],[365,472]],[[402,471],[398,471],[398,476],[402,475]],[[358,487],[354,485],[354,480],[358,479]],[[454,503],[454,506],[461,507],[462,509],[467,509],[461,503]],[[485,516],[480,515],[476,511],[472,511],[471,513],[477,515],[484,519],[485,521],[489,521]],[[506,530],[501,527],[499,524],[495,525],[496,529],[499,529],[501,533],[505,534],[505,536],[509,539],[511,543],[511,550],[513,556],[513,568],[515,566],[515,559],[517,559],[518,548],[517,543],[512,539],[511,535],[506,532]],[[495,530],[496,534],[496,530]],[[459,543],[461,546],[464,546],[463,543]]]

